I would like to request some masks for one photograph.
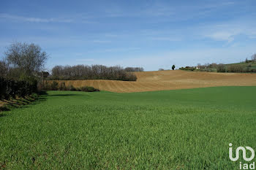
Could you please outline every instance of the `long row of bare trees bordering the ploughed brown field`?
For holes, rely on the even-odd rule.
[[[128,69],[142,72],[142,68]],[[102,66],[102,65],[76,65],[76,66],[54,66],[48,80],[123,80],[136,81],[134,73],[123,69],[121,66]]]

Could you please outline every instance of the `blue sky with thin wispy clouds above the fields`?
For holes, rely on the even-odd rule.
[[[34,42],[56,65],[170,69],[256,53],[256,1],[3,1],[0,57]]]

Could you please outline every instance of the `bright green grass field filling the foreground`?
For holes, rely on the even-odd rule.
[[[255,96],[256,87],[48,91],[0,113],[0,169],[238,169],[228,144],[256,149]]]

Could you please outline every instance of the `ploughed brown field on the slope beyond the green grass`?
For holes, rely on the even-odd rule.
[[[247,73],[217,73],[217,72],[187,72],[157,71],[135,72],[136,82],[118,80],[58,80],[75,88],[93,86],[99,90],[118,93],[130,93],[155,90],[174,90],[185,88],[206,88],[214,86],[252,86],[256,85],[256,74]],[[51,82],[51,81],[48,81]]]

